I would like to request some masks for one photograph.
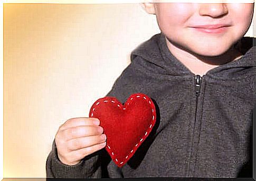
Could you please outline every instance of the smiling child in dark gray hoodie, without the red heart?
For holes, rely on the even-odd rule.
[[[46,177],[252,177],[255,58],[243,38],[254,4],[143,3],[160,34],[131,54],[107,96],[154,100],[157,123],[119,168],[103,149],[100,120],[60,126]]]

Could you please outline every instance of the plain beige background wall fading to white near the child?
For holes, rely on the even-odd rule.
[[[45,177],[58,127],[87,117],[156,33],[138,4],[4,4],[4,177]]]

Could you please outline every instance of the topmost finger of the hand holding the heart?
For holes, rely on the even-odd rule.
[[[98,126],[99,124],[100,120],[98,118],[77,117],[68,119],[63,125],[60,126],[59,129],[63,130],[77,126]]]

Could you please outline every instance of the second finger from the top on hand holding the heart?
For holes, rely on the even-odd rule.
[[[101,126],[78,126],[64,129],[61,131],[61,137],[66,141],[70,139],[101,135],[103,133],[103,128]]]

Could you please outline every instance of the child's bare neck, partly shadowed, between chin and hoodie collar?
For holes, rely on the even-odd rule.
[[[242,57],[242,54],[235,48],[230,48],[229,51],[219,56],[201,56],[193,52],[188,52],[182,47],[173,45],[166,38],[166,43],[169,51],[182,63],[189,71],[195,75],[205,75],[210,69],[219,65],[226,64]]]

